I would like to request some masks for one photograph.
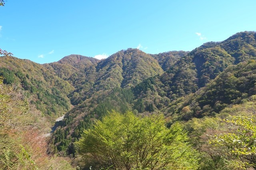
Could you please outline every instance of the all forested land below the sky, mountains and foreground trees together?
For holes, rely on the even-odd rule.
[[[1,54],[0,169],[256,168],[256,32],[102,60]]]

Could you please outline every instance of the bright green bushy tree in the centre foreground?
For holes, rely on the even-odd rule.
[[[100,164],[97,168],[197,169],[198,153],[187,140],[182,126],[166,128],[162,115],[140,118],[112,112],[84,130],[76,144],[87,161]]]

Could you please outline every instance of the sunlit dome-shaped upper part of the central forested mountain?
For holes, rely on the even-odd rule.
[[[138,49],[118,51],[100,62],[97,70],[100,73],[99,81],[108,81],[106,86],[110,87],[133,87],[148,77],[163,73],[156,59]],[[115,83],[108,77],[114,79]]]

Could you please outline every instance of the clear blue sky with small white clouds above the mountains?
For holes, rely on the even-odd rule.
[[[0,6],[0,48],[37,63],[130,47],[191,51],[256,31],[255,8],[256,0],[8,0]]]

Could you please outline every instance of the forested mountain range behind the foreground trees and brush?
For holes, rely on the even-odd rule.
[[[127,49],[103,60],[69,55],[43,65],[1,57],[0,76],[52,120],[66,114],[52,142],[60,154],[75,155],[73,142],[108,111],[163,113],[170,127],[214,117],[255,95],[256,33],[240,32],[190,52]]]

